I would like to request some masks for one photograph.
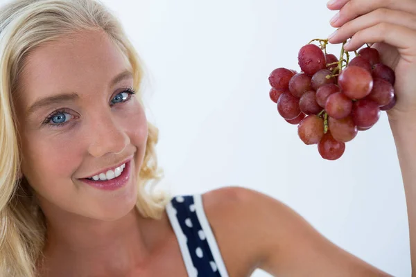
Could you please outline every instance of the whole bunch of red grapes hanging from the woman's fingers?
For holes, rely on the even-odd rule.
[[[327,53],[326,39],[314,40],[321,45],[309,43],[299,51],[300,73],[272,71],[270,99],[281,117],[298,125],[297,134],[306,145],[318,144],[323,159],[336,160],[358,131],[370,129],[381,111],[395,106],[395,72],[370,46],[351,61],[342,50],[338,60]]]

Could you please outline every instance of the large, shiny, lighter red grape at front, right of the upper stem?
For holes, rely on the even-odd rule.
[[[372,90],[372,75],[360,66],[347,66],[338,76],[338,85],[349,98],[361,99]]]

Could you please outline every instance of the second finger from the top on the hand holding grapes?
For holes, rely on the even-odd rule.
[[[415,0],[350,0],[345,6],[331,19],[331,26],[340,27],[346,22],[368,12],[379,8],[388,8],[390,10],[400,10],[402,12],[410,12],[416,14]]]

